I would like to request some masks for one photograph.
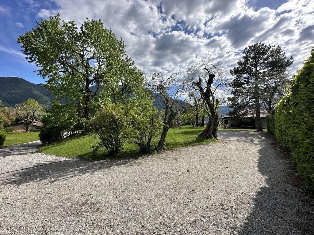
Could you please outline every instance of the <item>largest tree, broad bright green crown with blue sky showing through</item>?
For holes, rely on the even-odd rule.
[[[59,14],[50,16],[20,35],[18,43],[29,62],[38,66],[39,75],[48,78],[46,87],[56,101],[65,97],[75,102],[86,119],[95,104],[111,99],[112,86],[121,77],[134,71],[139,74],[125,53],[123,40],[117,40],[101,20],[87,19],[78,28],[74,21],[61,20]]]

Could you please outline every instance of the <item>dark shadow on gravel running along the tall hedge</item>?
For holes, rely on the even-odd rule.
[[[268,185],[253,197],[254,207],[239,234],[314,234],[314,207],[299,189],[300,180],[286,159],[289,155],[267,133],[233,134],[239,141],[261,146],[257,167]],[[219,138],[232,136],[224,131],[219,132]]]

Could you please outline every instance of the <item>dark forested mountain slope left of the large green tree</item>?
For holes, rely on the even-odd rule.
[[[49,107],[54,96],[42,87],[43,84],[34,84],[19,77],[0,77],[0,99],[5,106],[15,106],[18,103],[32,98]]]

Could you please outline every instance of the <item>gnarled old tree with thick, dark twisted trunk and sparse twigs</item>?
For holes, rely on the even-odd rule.
[[[225,72],[217,66],[211,64],[210,59],[205,57],[187,70],[185,82],[200,92],[206,105],[205,110],[208,110],[210,114],[206,128],[198,135],[200,138],[218,139],[219,100],[223,100],[223,98],[216,97],[216,91],[219,87],[226,86],[227,80]]]

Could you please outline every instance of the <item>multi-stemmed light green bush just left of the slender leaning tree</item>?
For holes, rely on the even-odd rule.
[[[151,99],[137,99],[127,104],[127,123],[132,130],[130,138],[138,145],[140,153],[146,154],[158,144],[163,123]]]

